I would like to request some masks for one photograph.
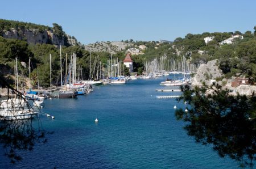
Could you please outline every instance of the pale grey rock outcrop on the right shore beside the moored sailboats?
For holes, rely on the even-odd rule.
[[[212,60],[207,64],[201,64],[192,78],[193,85],[210,85],[211,80],[222,76],[222,71],[218,69],[218,60]]]

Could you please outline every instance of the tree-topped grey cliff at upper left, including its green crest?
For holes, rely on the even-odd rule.
[[[28,44],[81,45],[75,37],[67,35],[56,23],[53,23],[53,27],[48,27],[0,19],[0,36],[7,39],[26,40]]]

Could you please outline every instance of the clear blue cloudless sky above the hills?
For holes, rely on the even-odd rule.
[[[254,0],[13,0],[0,18],[57,23],[82,44],[96,41],[170,40],[187,33],[254,31]]]

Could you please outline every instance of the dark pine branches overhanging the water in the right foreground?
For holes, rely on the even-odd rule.
[[[207,92],[210,89],[212,92]],[[213,84],[181,87],[179,100],[191,105],[188,112],[177,109],[178,120],[185,121],[184,129],[196,142],[213,145],[220,157],[228,156],[253,168],[256,154],[256,95],[232,96],[229,90]],[[187,108],[188,109],[188,108]]]

